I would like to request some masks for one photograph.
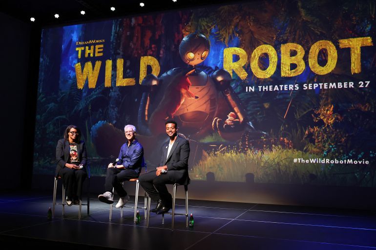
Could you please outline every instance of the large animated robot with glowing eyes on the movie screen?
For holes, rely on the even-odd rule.
[[[187,68],[173,68],[161,77],[147,75],[138,112],[138,129],[142,135],[164,133],[167,119],[175,119],[179,133],[199,140],[218,131],[222,138],[236,141],[245,130],[254,130],[246,120],[238,96],[230,86],[231,76],[223,69],[211,77],[196,69],[209,55],[209,40],[201,34],[189,34],[179,46]],[[231,125],[218,117],[229,114]]]

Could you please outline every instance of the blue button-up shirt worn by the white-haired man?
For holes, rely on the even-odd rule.
[[[125,169],[134,170],[136,173],[141,173],[141,168],[145,167],[144,148],[134,139],[128,147],[128,142],[125,142],[120,149],[118,165],[123,165]]]

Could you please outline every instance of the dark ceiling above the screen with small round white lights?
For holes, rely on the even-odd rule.
[[[144,7],[140,2],[145,3]],[[112,19],[127,15],[144,14],[155,11],[177,10],[218,3],[231,3],[231,0],[1,0],[0,12],[24,22],[34,17],[35,26],[74,24],[98,19]],[[239,1],[237,1],[239,2]],[[110,7],[115,7],[111,11]],[[81,15],[81,11],[85,15]],[[59,19],[54,17],[59,14]]]

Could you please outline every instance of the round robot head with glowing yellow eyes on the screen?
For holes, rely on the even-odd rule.
[[[180,57],[192,66],[203,62],[208,57],[209,50],[209,39],[202,34],[189,34],[179,46]]]

